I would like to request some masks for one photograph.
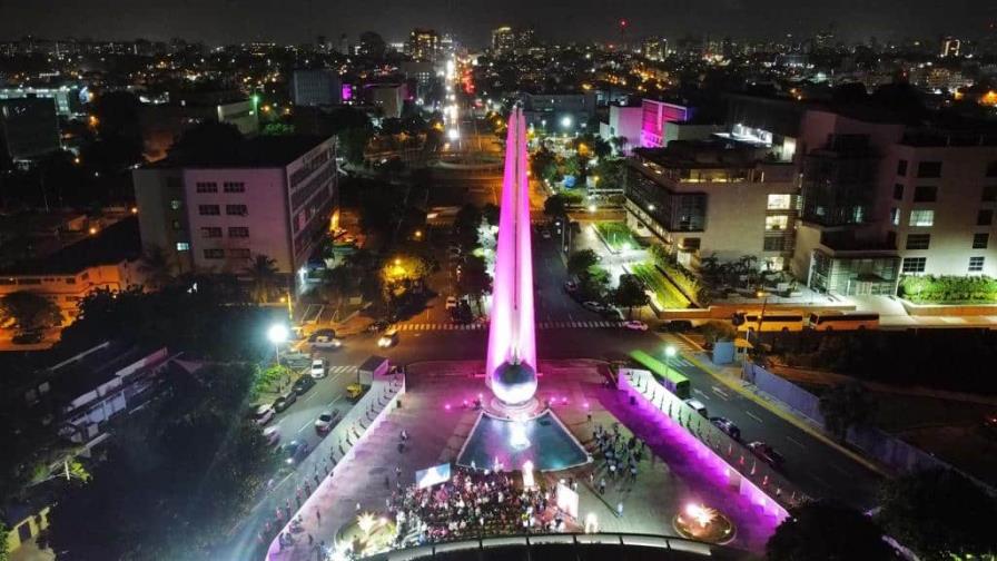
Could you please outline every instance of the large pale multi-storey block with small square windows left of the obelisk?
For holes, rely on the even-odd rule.
[[[142,244],[205,273],[238,274],[266,255],[292,282],[328,230],[335,160],[334,138],[257,137],[230,159],[136,169]]]

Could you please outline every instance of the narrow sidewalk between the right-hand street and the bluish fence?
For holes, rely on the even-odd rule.
[[[754,387],[754,385],[752,385],[751,383],[744,381],[741,377],[741,365],[740,364],[729,365],[729,366],[715,365],[710,360],[709,354],[707,354],[707,352],[703,351],[699,345],[697,345],[692,339],[690,339],[689,337],[687,337],[682,334],[675,334],[674,336],[677,336],[681,341],[685,342],[689,346],[699,350],[699,352],[697,352],[697,353],[685,355],[685,357],[689,360],[689,362],[691,362],[692,364],[698,366],[703,372],[712,375],[714,378],[717,378],[718,381],[723,383],[725,386],[738,392],[741,396],[753,401],[758,405],[761,405],[762,407],[767,409],[770,413],[778,416],[779,419],[782,419],[783,421],[792,424],[797,429],[804,431],[806,433],[810,434],[815,439],[821,441],[822,443],[827,444],[828,446],[836,449],[838,452],[841,452],[842,454],[855,460],[856,462],[868,468],[869,470],[872,470],[873,472],[876,472],[880,475],[884,475],[884,476],[890,475],[889,471],[887,471],[886,468],[884,468],[879,463],[873,462],[873,461],[865,457],[863,455],[852,451],[851,449],[848,449],[848,447],[841,445],[830,434],[826,433],[822,427],[817,426],[811,420],[804,419],[804,417],[798,415],[794,411],[789,409],[781,401],[772,397],[771,395],[766,394],[764,392]]]

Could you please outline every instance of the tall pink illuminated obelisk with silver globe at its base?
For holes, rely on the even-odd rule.
[[[507,405],[522,405],[536,393],[533,324],[533,252],[530,246],[530,185],[526,178],[526,125],[513,108],[505,141],[505,175],[498,214],[498,243],[492,288],[492,323],[485,376]]]

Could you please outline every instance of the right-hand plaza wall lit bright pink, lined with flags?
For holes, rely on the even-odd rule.
[[[650,372],[621,373],[616,384],[635,405],[662,424],[669,436],[691,450],[712,480],[737,489],[766,514],[774,516],[777,523],[789,515],[787,509],[807,500],[801,491],[757,460],[740,442],[669,392]]]

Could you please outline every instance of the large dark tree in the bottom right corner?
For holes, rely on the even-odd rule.
[[[887,480],[877,520],[886,533],[921,559],[981,559],[997,552],[997,502],[951,470],[934,469]]]

